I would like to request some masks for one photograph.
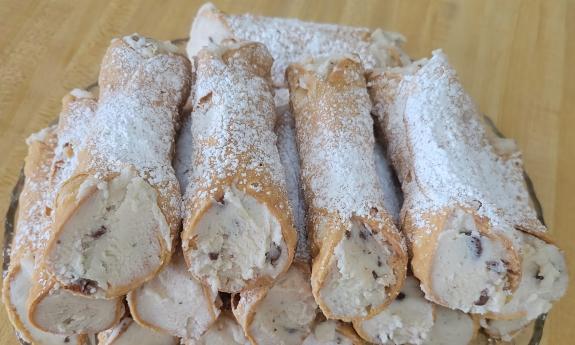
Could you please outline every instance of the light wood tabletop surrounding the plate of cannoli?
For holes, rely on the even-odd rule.
[[[519,143],[552,234],[575,267],[575,1],[215,2],[231,13],[399,31],[416,58],[443,48],[482,111]],[[26,152],[24,139],[56,118],[68,90],[97,79],[110,39],[132,32],[186,37],[200,4],[0,0],[1,215]],[[546,344],[575,342],[573,288],[553,308],[544,338]],[[17,344],[3,308],[0,343]]]

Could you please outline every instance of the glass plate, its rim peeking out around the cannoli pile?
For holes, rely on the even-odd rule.
[[[185,45],[188,42],[188,38],[179,38],[175,40],[171,40],[173,44],[175,44],[181,52],[184,52]],[[98,83],[90,84],[86,87],[86,90],[92,91],[97,94]],[[503,134],[495,127],[493,121],[488,117],[484,116],[486,123],[493,129],[495,134],[499,137],[503,138]],[[56,124],[57,120],[54,121],[53,124]],[[535,206],[535,210],[537,211],[537,216],[543,224],[545,224],[543,220],[543,211],[541,209],[541,204],[537,199],[535,194],[535,189],[533,188],[533,183],[531,179],[524,173],[525,183],[529,189],[529,195],[531,196],[531,200],[533,201],[533,205]],[[6,274],[6,270],[8,269],[8,265],[10,264],[10,244],[12,243],[12,237],[14,235],[14,226],[16,224],[16,212],[18,209],[18,199],[20,197],[20,192],[22,191],[22,187],[24,186],[24,170],[20,169],[20,175],[18,177],[18,182],[12,189],[12,194],[10,195],[10,205],[8,207],[8,211],[6,212],[6,218],[4,220],[4,263],[2,265],[2,272],[3,276]],[[498,339],[492,339],[487,334],[483,332],[479,332],[479,336],[475,341],[477,345],[483,344],[497,344],[497,345],[539,345],[541,342],[541,338],[543,336],[543,328],[545,326],[545,319],[547,318],[547,314],[540,315],[537,319],[533,320],[530,325],[526,326],[523,330],[517,334],[513,340],[507,342]],[[18,334],[17,334],[18,336]],[[23,341],[19,336],[18,339],[20,343],[23,345],[29,345],[25,341]],[[95,337],[90,337],[89,342],[91,344],[97,344],[97,340]]]

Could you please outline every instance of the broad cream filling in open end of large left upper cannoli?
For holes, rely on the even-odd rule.
[[[94,293],[157,270],[172,240],[155,189],[130,169],[91,188],[49,253],[59,280]]]

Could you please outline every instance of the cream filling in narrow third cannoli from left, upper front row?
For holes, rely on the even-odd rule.
[[[353,221],[335,246],[320,290],[329,310],[336,316],[360,317],[382,305],[388,298],[386,288],[396,281],[389,265],[392,255],[383,236]]]

